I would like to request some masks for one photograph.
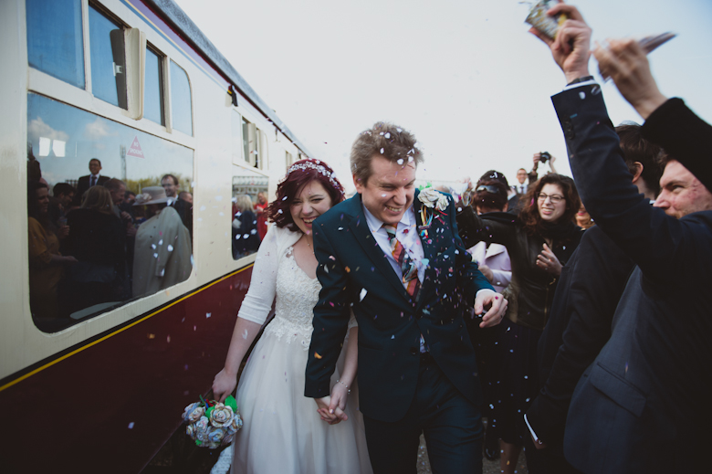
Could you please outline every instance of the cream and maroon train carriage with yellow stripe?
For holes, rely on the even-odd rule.
[[[170,0],[5,0],[0,25],[1,470],[140,472],[225,360],[255,250],[235,251],[236,195],[274,195],[309,153]],[[193,194],[191,265],[141,294],[128,265],[123,292],[57,312],[81,277],[37,290],[28,181],[78,184],[92,159]]]

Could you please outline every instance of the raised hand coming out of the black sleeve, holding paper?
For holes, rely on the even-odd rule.
[[[609,39],[608,47],[596,43],[593,56],[598,60],[603,79],[613,79],[621,95],[644,119],[667,100],[657,89],[648,58],[638,41]]]

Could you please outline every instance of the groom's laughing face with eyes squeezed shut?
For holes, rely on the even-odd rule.
[[[393,163],[381,154],[373,155],[371,177],[366,184],[353,178],[363,205],[384,224],[395,226],[413,204],[414,163]]]

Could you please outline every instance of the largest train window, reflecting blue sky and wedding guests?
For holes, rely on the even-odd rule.
[[[193,150],[33,93],[27,140],[28,161],[54,193],[47,204],[44,184],[28,183],[39,329],[56,332],[190,276]]]

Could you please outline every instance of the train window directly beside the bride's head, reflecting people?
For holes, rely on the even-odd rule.
[[[269,179],[249,168],[233,166],[233,258],[257,252],[267,234],[267,184]]]

